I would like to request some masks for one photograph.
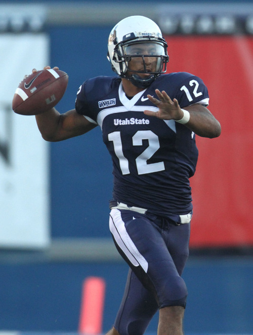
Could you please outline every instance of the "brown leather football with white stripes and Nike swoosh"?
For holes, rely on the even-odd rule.
[[[12,109],[21,115],[41,114],[61,100],[67,85],[67,73],[57,69],[40,70],[25,76],[15,91]]]

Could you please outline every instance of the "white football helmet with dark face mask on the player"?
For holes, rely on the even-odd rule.
[[[142,58],[142,70],[129,68],[133,57]],[[155,69],[147,68],[145,57],[155,60]],[[107,58],[111,62],[113,71],[121,78],[130,80],[137,87],[146,88],[160,73],[166,72],[167,44],[154,21],[144,16],[130,16],[113,27],[108,39]],[[128,70],[148,73],[150,76],[141,78],[137,73],[129,75]]]

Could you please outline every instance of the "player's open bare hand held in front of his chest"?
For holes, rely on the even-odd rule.
[[[183,118],[184,113],[181,110],[177,99],[172,100],[165,91],[160,92],[158,89],[155,90],[155,93],[158,99],[149,94],[147,97],[159,108],[159,110],[144,110],[144,114],[162,120],[180,120]]]

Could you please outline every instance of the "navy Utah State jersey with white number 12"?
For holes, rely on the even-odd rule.
[[[119,77],[96,77],[79,88],[77,113],[101,127],[113,162],[113,199],[128,206],[180,222],[192,210],[189,177],[193,176],[198,150],[195,134],[174,120],[146,116],[157,111],[147,94],[164,90],[181,108],[208,105],[203,81],[187,72],[158,77],[147,89],[128,99]]]

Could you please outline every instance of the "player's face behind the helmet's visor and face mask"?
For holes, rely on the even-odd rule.
[[[124,53],[132,56],[128,62],[129,70],[146,77],[149,76],[149,72],[157,72],[161,62],[157,55],[164,55],[164,50],[158,43],[137,43],[124,47]]]

